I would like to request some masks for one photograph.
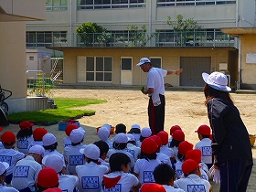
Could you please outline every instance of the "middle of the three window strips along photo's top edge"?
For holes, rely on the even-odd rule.
[[[78,0],[77,9],[144,7],[145,0]]]

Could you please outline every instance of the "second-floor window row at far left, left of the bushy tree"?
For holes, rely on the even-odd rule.
[[[67,45],[67,31],[27,31],[27,48]]]

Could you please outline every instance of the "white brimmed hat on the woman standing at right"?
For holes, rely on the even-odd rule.
[[[212,72],[210,75],[208,73],[202,73],[203,80],[213,89],[218,91],[231,91],[228,86],[228,78],[221,72]]]

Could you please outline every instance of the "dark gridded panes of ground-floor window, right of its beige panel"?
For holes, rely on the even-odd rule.
[[[112,82],[112,58],[86,57],[85,65],[87,82]]]

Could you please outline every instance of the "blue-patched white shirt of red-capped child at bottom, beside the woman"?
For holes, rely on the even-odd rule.
[[[182,188],[186,192],[191,191],[205,191],[208,192],[210,189],[210,183],[197,176],[196,174],[190,174],[186,178],[180,178],[175,181],[174,187]]]

